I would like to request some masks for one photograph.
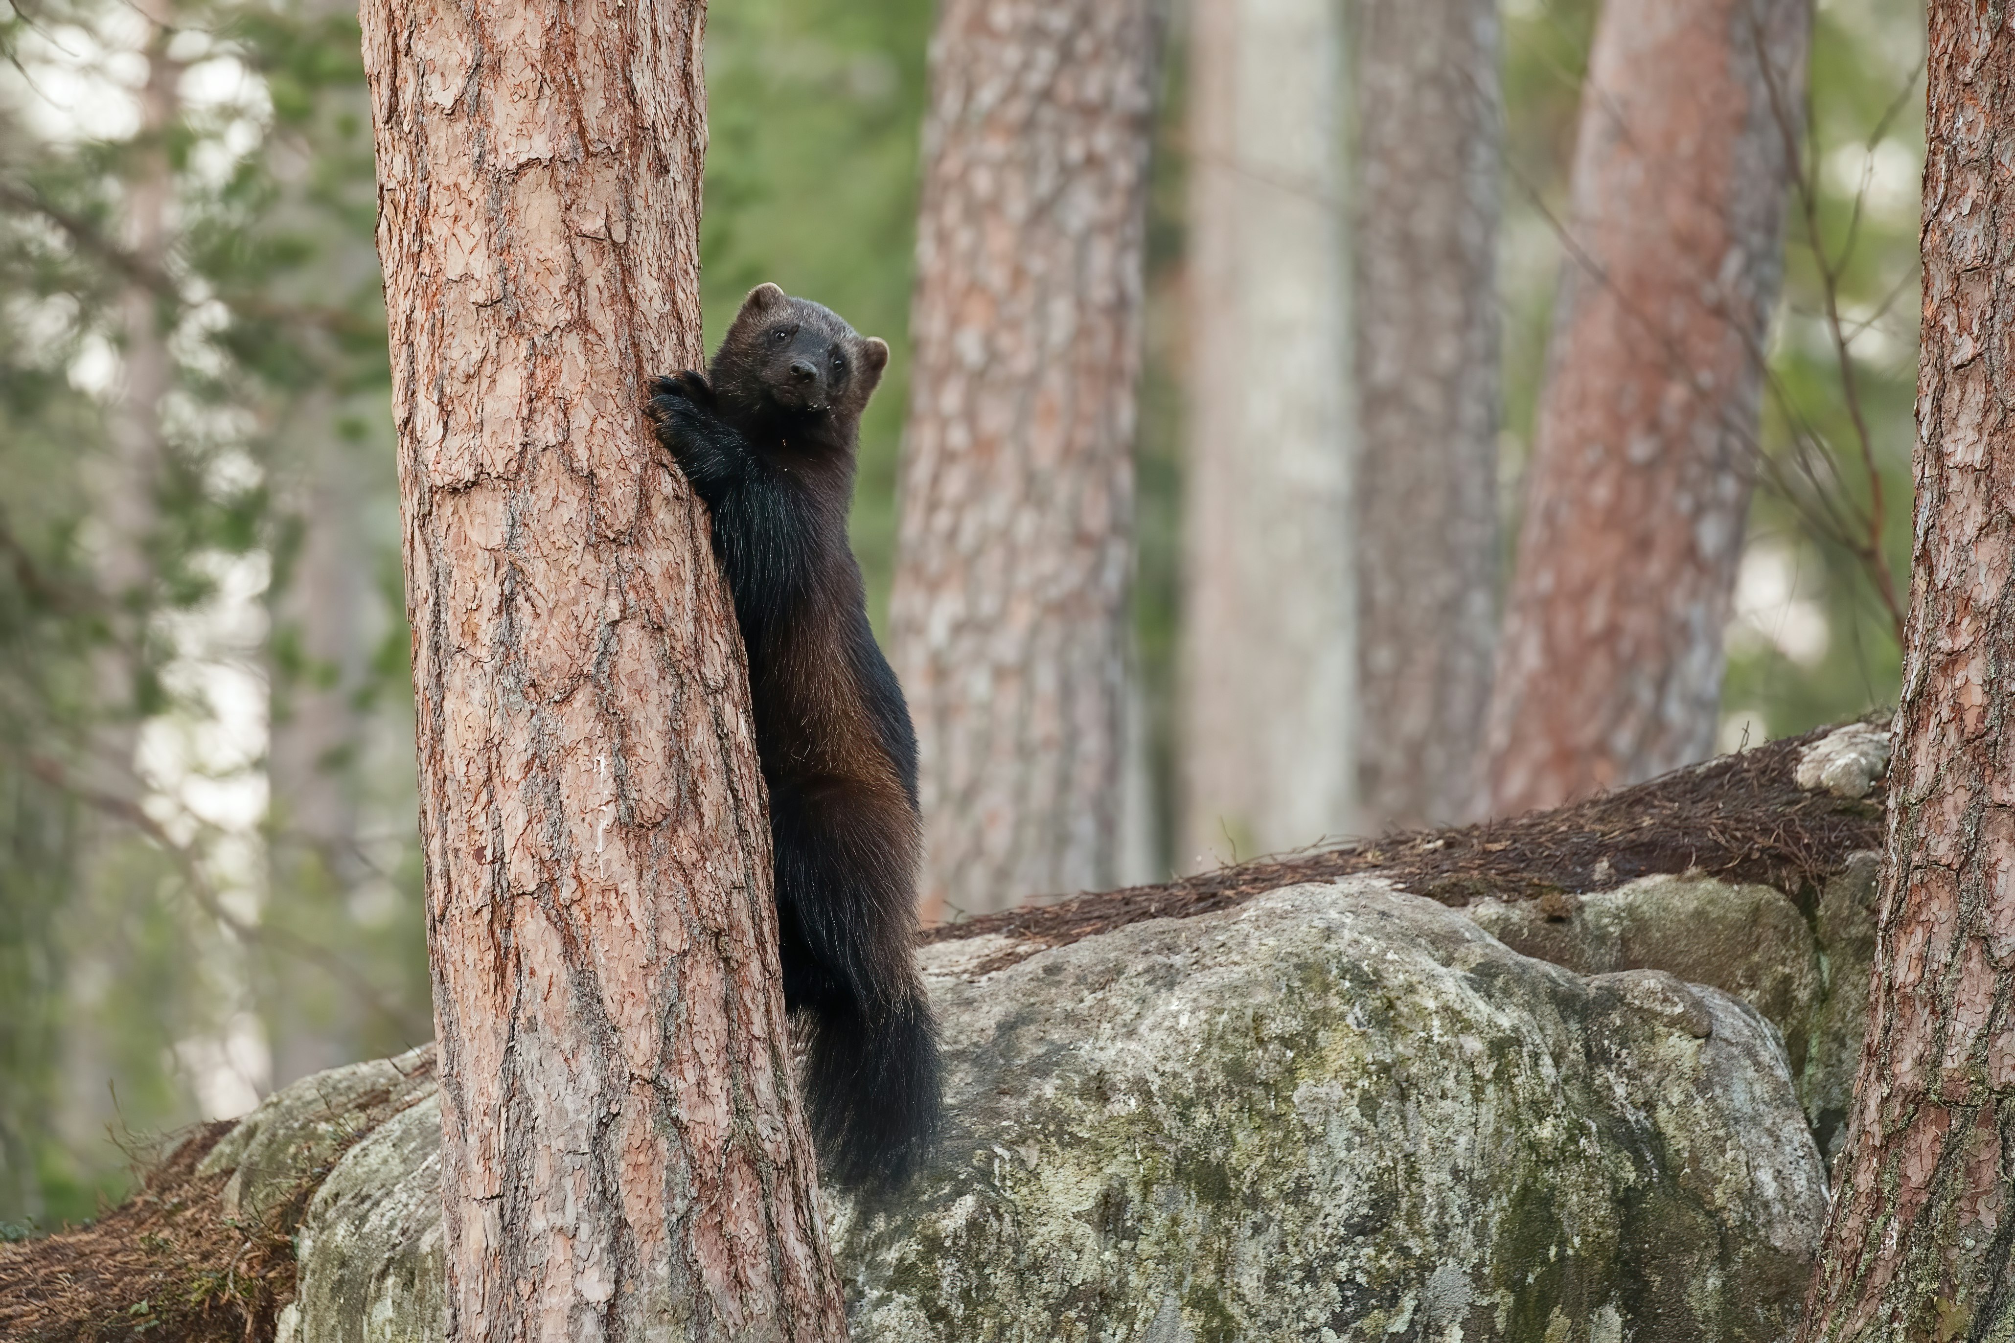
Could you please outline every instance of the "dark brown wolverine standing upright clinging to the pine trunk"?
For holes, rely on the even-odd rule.
[[[651,381],[657,441],[713,521],[770,787],[784,1007],[828,1174],[895,1188],[937,1128],[931,1005],[911,952],[917,737],[846,542],[860,411],[889,346],[774,284],[707,370]]]

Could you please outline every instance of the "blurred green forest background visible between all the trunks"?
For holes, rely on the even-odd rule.
[[[1507,554],[1596,10],[1501,6]],[[776,280],[895,348],[854,505],[883,632],[933,18],[929,0],[737,0],[705,44],[709,346]],[[1894,697],[1892,616],[1826,519],[1824,499],[1866,501],[1830,310],[1890,501],[1880,562],[1902,576],[1922,32],[1910,0],[1818,4],[1721,749]],[[1171,838],[1187,34],[1179,8],[1149,195],[1130,878],[1191,866]],[[0,1222],[18,1230],[121,1192],[131,1136],[423,1041],[431,1017],[355,14],[38,0],[0,44]]]

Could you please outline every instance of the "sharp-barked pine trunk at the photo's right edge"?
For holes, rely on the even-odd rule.
[[[2015,1214],[2015,34],[1930,4],[1916,556],[1868,1045],[1801,1339],[2005,1339]]]

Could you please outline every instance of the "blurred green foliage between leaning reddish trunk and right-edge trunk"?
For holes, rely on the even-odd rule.
[[[1811,40],[1807,133],[1816,252],[1793,195],[1785,300],[1771,344],[1765,405],[1767,481],[1749,519],[1745,594],[1765,598],[1739,618],[1723,705],[1751,737],[1783,737],[1894,703],[1900,630],[1878,596],[1886,566],[1908,602],[1910,449],[1916,439],[1918,181],[1924,171],[1924,16],[1918,4],[1832,0]],[[1864,467],[1850,387],[1828,320],[1828,274],[1848,336],[1852,397],[1868,429]],[[1801,485],[1805,443],[1818,487]],[[1870,481],[1880,485],[1878,556],[1866,544]],[[1838,513],[1842,524],[1828,521]],[[1777,594],[1787,600],[1773,600]]]

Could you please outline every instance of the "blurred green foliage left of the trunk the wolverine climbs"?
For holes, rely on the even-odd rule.
[[[298,477],[322,447],[347,453],[337,469],[359,481],[355,560],[373,580],[397,574],[357,22],[341,8],[220,0],[181,6],[177,24],[167,52],[185,64],[183,101],[159,137],[97,137],[83,107],[123,97],[131,8],[79,0],[0,24],[16,60],[0,85],[0,550],[12,560],[0,564],[0,1216],[40,1224],[91,1214],[123,1184],[107,1128],[197,1117],[204,1075],[242,1065],[260,1035],[347,1031],[332,1049],[351,1057],[427,1029],[395,578],[389,594],[377,584],[393,628],[373,638],[401,652],[365,650],[345,689],[377,737],[405,745],[326,761],[339,789],[405,819],[373,846],[367,916],[351,908],[355,874],[332,886],[280,836],[260,872],[260,836],[199,805],[242,795],[260,771],[256,747],[252,759],[216,749],[244,735],[244,709],[226,701],[258,685],[264,662],[232,624],[258,610],[246,584],[260,566],[272,572],[274,711],[294,685],[324,681],[324,666],[286,656],[298,640],[278,618]],[[71,125],[52,83],[69,89]],[[163,151],[173,238],[155,270],[127,252],[127,201]],[[139,546],[147,578],[99,592],[107,538],[93,509],[135,292],[173,381],[153,417],[151,524],[119,538]],[[123,675],[107,681],[107,660]],[[125,689],[107,699],[115,683]],[[375,777],[357,777],[365,765]],[[248,1035],[258,1009],[264,1029]]]

